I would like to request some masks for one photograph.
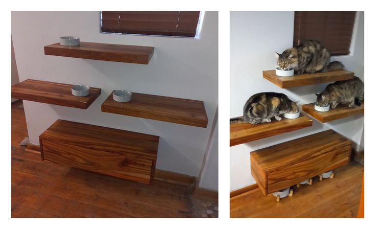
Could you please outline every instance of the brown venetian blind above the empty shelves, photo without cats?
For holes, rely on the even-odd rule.
[[[200,11],[102,11],[102,32],[194,37]]]

